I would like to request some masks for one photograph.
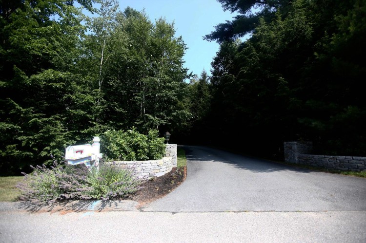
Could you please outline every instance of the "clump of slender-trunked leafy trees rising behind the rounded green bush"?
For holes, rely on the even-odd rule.
[[[181,102],[188,92],[182,37],[174,37],[173,24],[164,19],[153,24],[144,13],[128,8],[117,24],[123,31],[110,42],[114,57],[104,90],[106,110],[115,111],[106,115],[111,126],[135,126],[146,133],[184,122],[190,114]]]

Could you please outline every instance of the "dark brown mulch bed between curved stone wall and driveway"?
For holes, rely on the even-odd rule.
[[[140,203],[139,207],[162,198],[178,187],[187,177],[187,167],[173,168],[163,176],[150,179],[142,184],[142,188],[128,199]]]

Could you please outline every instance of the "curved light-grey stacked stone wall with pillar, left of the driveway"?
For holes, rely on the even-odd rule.
[[[177,145],[167,144],[165,157],[160,160],[146,161],[109,161],[108,166],[131,169],[134,175],[140,179],[162,176],[177,167]]]

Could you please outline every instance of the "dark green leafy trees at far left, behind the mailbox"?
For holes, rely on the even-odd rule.
[[[66,0],[17,2],[0,12],[0,130],[7,134],[0,139],[2,175],[61,161],[89,123],[81,113],[94,110],[80,105],[93,97],[75,73],[81,11]]]

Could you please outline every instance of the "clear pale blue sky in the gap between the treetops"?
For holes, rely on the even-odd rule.
[[[145,9],[149,19],[154,22],[160,17],[168,22],[174,21],[176,37],[182,36],[188,47],[184,55],[184,67],[188,72],[200,75],[206,70],[210,75],[211,61],[219,50],[219,44],[203,40],[214,26],[231,20],[236,14],[223,10],[216,0],[119,0],[123,11],[130,6],[138,11]]]

